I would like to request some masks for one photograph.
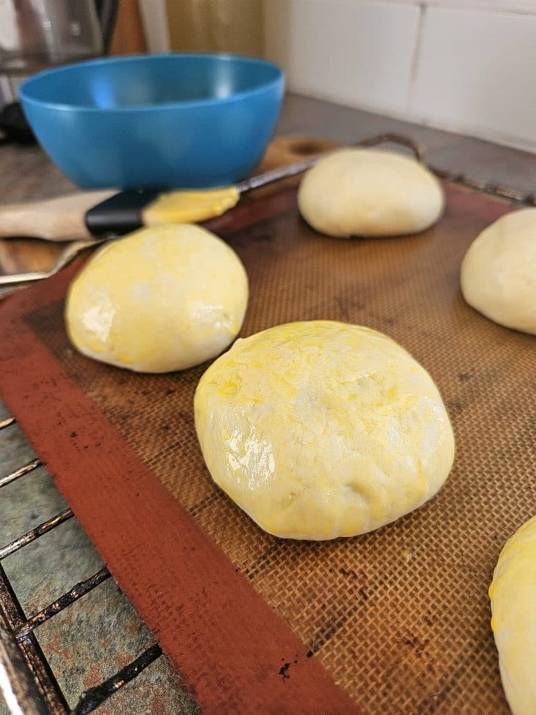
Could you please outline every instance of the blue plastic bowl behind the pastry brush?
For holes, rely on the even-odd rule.
[[[42,147],[80,187],[209,187],[259,162],[283,89],[267,61],[166,54],[51,69],[19,96]]]

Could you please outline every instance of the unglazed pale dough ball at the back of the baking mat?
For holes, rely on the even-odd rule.
[[[298,206],[328,236],[397,236],[425,230],[442,214],[443,192],[415,159],[374,149],[341,149],[302,179]]]

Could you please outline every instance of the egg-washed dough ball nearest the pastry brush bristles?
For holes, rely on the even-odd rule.
[[[190,224],[109,242],[69,289],[66,325],[89,358],[141,373],[214,358],[242,326],[247,275],[217,236]]]

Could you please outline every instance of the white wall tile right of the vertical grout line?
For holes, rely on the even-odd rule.
[[[536,15],[427,9],[410,114],[536,149]]]

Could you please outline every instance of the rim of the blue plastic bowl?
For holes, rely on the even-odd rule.
[[[241,92],[233,92],[229,94],[229,97],[209,97],[208,99],[187,99],[184,101],[177,100],[177,102],[160,102],[158,104],[139,104],[139,105],[129,105],[127,107],[94,107],[86,106],[84,104],[65,104],[64,102],[53,102],[48,99],[36,99],[27,94],[27,90],[31,89],[32,84],[39,83],[43,77],[49,77],[52,74],[62,74],[64,72],[69,72],[72,69],[79,68],[81,66],[94,66],[99,64],[128,64],[136,63],[139,61],[149,61],[153,62],[159,59],[172,59],[172,58],[182,58],[182,59],[217,59],[222,61],[241,61],[245,64],[261,64],[264,66],[271,67],[275,70],[276,74],[274,79],[269,79],[266,82],[262,82],[252,89],[245,89]],[[265,92],[266,89],[270,87],[276,87],[279,84],[283,84],[284,87],[284,72],[281,67],[279,67],[274,62],[267,59],[262,59],[258,57],[250,57],[241,54],[232,54],[229,52],[164,52],[159,54],[131,54],[124,55],[120,57],[99,57],[97,59],[89,59],[83,62],[73,62],[71,64],[64,64],[61,67],[53,67],[51,69],[45,69],[37,74],[32,75],[28,79],[25,79],[19,85],[19,98],[24,106],[24,103],[34,104],[36,107],[46,107],[47,109],[57,109],[61,112],[90,112],[90,113],[105,113],[105,114],[124,114],[129,112],[154,112],[155,109],[177,109],[179,107],[211,107],[221,104],[232,104],[232,102],[237,102],[240,99],[247,97],[254,97],[256,94],[261,94]]]

